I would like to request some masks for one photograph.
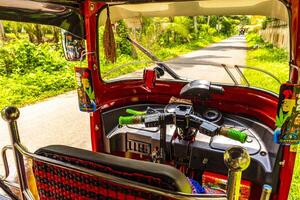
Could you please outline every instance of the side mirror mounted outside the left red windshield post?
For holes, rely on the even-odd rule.
[[[83,60],[85,40],[65,30],[61,31],[61,35],[65,58],[68,61]]]

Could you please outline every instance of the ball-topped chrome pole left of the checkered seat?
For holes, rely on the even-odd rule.
[[[17,119],[20,116],[20,111],[16,107],[5,107],[1,112],[1,116],[3,120],[7,121],[8,123],[10,139],[13,147],[13,156],[15,159],[18,180],[20,183],[21,198],[22,200],[25,200],[27,198],[24,191],[28,189],[26,170],[23,156],[15,147],[15,144],[21,144],[17,125]]]

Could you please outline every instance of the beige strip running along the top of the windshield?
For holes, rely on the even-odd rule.
[[[114,2],[114,1],[112,1]],[[116,3],[116,2],[114,2]],[[286,4],[280,0],[129,1],[110,7],[111,20],[198,15],[262,15],[289,21]],[[101,17],[105,14],[102,13]],[[102,21],[102,20],[101,20]]]

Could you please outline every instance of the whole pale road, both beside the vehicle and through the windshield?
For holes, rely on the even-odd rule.
[[[199,67],[195,64],[185,67],[174,66],[176,72],[182,76],[192,79],[213,78],[217,82],[231,82],[224,69],[213,68],[209,65],[217,63],[244,65],[245,56],[245,38],[235,36],[172,61],[201,62],[204,66]],[[213,76],[212,73],[214,73]],[[80,112],[77,104],[77,94],[73,91],[21,108],[18,120],[21,141],[30,151],[50,144],[65,144],[91,149],[89,114]],[[7,124],[1,119],[0,147],[2,148],[6,144],[9,144]],[[1,171],[2,160],[0,161]]]

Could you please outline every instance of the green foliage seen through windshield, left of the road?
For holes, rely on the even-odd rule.
[[[127,35],[150,50],[160,60],[168,60],[229,37],[236,33],[238,25],[249,22],[248,17],[239,16],[142,17],[139,20],[141,25],[136,28],[128,28],[126,20],[115,23],[115,37],[118,46],[116,63],[111,64],[105,59],[103,46],[100,46],[100,70],[103,80],[142,69],[145,67],[145,62],[150,61],[147,56],[136,50],[137,48],[126,40]],[[216,29],[217,24],[221,24],[220,30]],[[103,44],[103,30],[104,27],[100,26],[99,44]]]

